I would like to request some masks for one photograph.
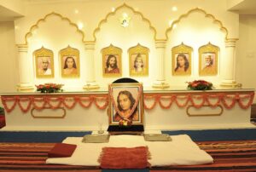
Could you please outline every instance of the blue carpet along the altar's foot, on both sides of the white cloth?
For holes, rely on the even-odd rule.
[[[66,137],[83,137],[84,132],[12,132],[0,131],[0,142],[61,142]],[[256,129],[209,129],[162,131],[168,135],[189,135],[194,141],[256,140]]]

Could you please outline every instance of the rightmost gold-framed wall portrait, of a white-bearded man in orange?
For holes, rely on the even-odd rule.
[[[211,43],[199,48],[199,75],[214,76],[218,74],[219,48]]]

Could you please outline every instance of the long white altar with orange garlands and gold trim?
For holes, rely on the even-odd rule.
[[[145,130],[241,129],[250,123],[254,89],[143,91]],[[15,131],[108,129],[108,91],[1,94],[6,127]]]

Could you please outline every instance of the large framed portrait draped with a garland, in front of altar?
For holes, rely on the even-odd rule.
[[[119,125],[127,120],[132,125],[143,124],[143,84],[112,83],[109,93],[109,125]]]

